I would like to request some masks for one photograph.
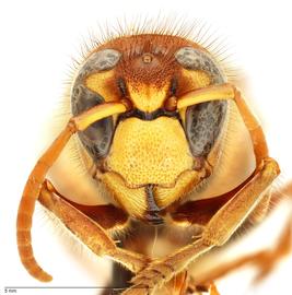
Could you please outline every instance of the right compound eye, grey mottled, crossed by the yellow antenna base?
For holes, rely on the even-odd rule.
[[[226,81],[208,52],[183,47],[176,51],[175,58],[187,70],[207,72],[211,78],[211,84],[222,84]],[[207,156],[210,153],[222,129],[226,108],[225,101],[208,102],[187,108],[185,132],[194,156]]]

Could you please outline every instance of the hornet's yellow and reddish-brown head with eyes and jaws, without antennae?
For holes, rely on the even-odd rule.
[[[95,179],[129,215],[159,224],[210,175],[226,103],[177,111],[167,102],[223,82],[209,54],[178,37],[124,37],[90,55],[74,82],[72,110],[79,115],[104,102],[130,105],[80,134]]]

